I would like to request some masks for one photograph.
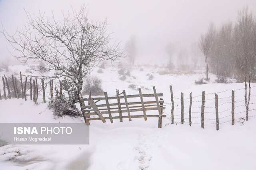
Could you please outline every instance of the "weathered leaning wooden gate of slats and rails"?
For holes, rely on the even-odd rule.
[[[83,101],[88,101],[88,105],[82,106],[83,114],[86,117],[86,125],[90,125],[92,120],[101,120],[103,123],[106,122],[106,119],[110,119],[110,122],[113,123],[113,119],[119,119],[120,122],[123,122],[123,119],[127,118],[129,121],[132,121],[133,118],[144,118],[146,121],[148,117],[158,117],[158,127],[162,127],[162,117],[163,115],[163,106],[164,100],[162,93],[156,93],[156,88],[153,87],[154,94],[142,94],[141,89],[138,89],[139,94],[126,95],[125,90],[119,94],[119,90],[116,90],[116,96],[108,97],[107,92],[104,92],[104,97],[89,97],[87,99],[82,99]],[[144,102],[143,98],[152,97],[154,100],[149,100]],[[140,101],[128,102],[128,98],[139,98]],[[121,102],[121,99],[124,102]],[[130,99],[132,100],[132,99]],[[104,104],[96,104],[100,101],[103,101]],[[114,101],[114,102],[113,102]],[[112,107],[114,106],[114,107]],[[158,114],[147,115],[146,111],[156,110]],[[142,111],[143,115],[137,115],[135,112]],[[117,114],[118,115],[114,115]],[[106,115],[104,117],[104,115]]]

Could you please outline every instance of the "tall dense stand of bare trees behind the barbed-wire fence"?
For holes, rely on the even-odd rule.
[[[227,78],[244,81],[247,76],[256,81],[256,16],[244,8],[235,23],[227,21],[218,29],[210,24],[199,42],[208,72],[217,75],[218,82]]]

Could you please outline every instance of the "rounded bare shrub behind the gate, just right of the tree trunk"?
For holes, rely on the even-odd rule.
[[[97,77],[89,76],[84,81],[84,87],[82,94],[88,95],[92,94],[92,96],[101,96],[104,91],[102,90],[102,81]]]

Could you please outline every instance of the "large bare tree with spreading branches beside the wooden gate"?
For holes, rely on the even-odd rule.
[[[119,43],[106,33],[106,20],[92,22],[88,19],[86,8],[62,11],[62,19],[52,14],[46,17],[30,15],[25,11],[28,23],[10,35],[4,28],[2,33],[13,49],[20,55],[14,55],[21,62],[43,61],[44,70],[54,71],[52,77],[68,77],[77,89],[76,97],[80,106],[80,91],[83,78],[100,61],[115,61],[123,56]],[[35,68],[36,69],[36,68]]]

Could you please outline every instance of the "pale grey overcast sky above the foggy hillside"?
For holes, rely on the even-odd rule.
[[[10,33],[26,22],[23,8],[46,14],[87,5],[91,20],[108,18],[108,31],[125,43],[138,39],[139,55],[163,56],[168,42],[189,47],[205,33],[209,23],[217,26],[235,21],[238,10],[256,11],[256,0],[0,0],[0,21]],[[2,29],[2,28],[1,28]],[[0,61],[10,57],[10,46],[0,35]],[[10,49],[12,50],[12,49]]]

